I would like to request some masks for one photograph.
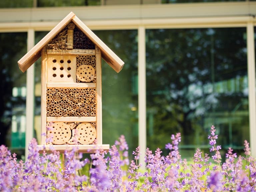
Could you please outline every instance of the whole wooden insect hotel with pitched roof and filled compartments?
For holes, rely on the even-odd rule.
[[[124,62],[73,12],[18,61],[20,70],[40,57],[39,150],[108,150],[109,144],[102,144],[101,58],[117,73]]]

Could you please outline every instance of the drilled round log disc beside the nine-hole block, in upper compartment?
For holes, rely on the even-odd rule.
[[[95,77],[95,69],[91,65],[81,65],[76,70],[76,77],[82,82],[91,82]]]

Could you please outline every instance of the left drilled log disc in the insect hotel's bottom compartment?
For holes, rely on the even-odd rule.
[[[49,131],[52,135],[52,143],[62,145],[71,138],[71,130],[69,126],[63,122],[56,122],[52,124],[52,130]]]

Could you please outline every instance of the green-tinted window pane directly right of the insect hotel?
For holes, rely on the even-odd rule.
[[[102,62],[103,143],[111,146],[123,134],[132,152],[138,146],[137,30],[94,33],[125,62],[119,73]]]

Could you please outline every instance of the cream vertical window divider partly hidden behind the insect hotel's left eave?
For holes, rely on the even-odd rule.
[[[27,51],[34,47],[35,30],[28,29],[27,31]],[[31,65],[26,71],[26,136],[25,136],[25,159],[28,157],[28,145],[34,137],[34,100],[35,100],[35,65]]]

